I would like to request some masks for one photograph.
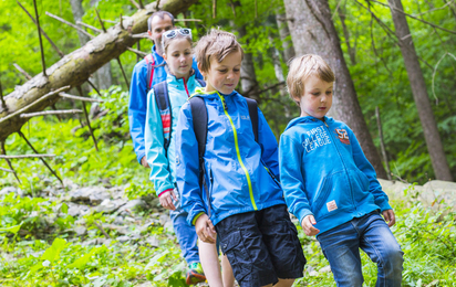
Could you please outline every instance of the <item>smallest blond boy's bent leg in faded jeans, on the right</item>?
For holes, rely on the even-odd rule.
[[[369,214],[362,219],[360,226],[363,227],[364,233],[361,237],[361,248],[377,265],[375,286],[401,286],[404,253],[396,238],[380,214]]]

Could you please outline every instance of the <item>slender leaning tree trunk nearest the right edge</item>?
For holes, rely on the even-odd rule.
[[[401,13],[404,8],[401,0],[388,0],[388,3],[435,176],[438,180],[453,181],[408,23]]]

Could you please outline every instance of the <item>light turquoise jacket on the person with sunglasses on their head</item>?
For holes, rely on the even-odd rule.
[[[157,103],[155,100],[154,89],[147,94],[147,115],[145,130],[145,147],[147,162],[151,167],[151,181],[154,183],[157,195],[162,192],[173,189],[176,182],[176,129],[177,118],[180,107],[187,102],[188,97],[200,87],[198,81],[195,81],[195,74],[186,82],[184,78],[176,78],[168,74],[168,95],[172,107],[172,134],[170,142],[166,151],[164,148],[163,125]]]

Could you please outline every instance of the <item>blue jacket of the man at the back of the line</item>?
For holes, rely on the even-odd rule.
[[[160,65],[165,62],[165,60],[156,53],[155,45],[152,47],[152,56],[154,57],[155,65]],[[203,78],[195,59],[193,68],[196,72],[196,77]],[[155,67],[152,86],[163,81],[166,81],[165,66]],[[143,59],[133,68],[128,102],[129,135],[132,136],[138,162],[141,162],[141,159],[146,155],[144,149],[144,128],[146,124],[147,92],[147,63]]]

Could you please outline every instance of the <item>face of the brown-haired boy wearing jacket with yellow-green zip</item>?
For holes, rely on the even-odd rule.
[[[213,57],[209,71],[201,71],[203,76],[207,79],[206,92],[218,91],[225,95],[231,94],[239,83],[241,62],[240,51],[228,54],[220,63]]]

